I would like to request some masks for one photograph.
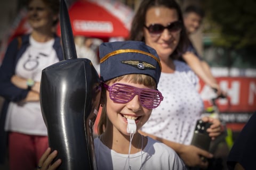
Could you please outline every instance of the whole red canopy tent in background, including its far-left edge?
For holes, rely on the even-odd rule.
[[[9,42],[19,35],[29,33],[26,10],[21,10],[13,28],[2,41],[0,63]],[[79,0],[69,7],[70,23],[74,36],[86,36],[109,41],[110,38],[128,38],[133,19],[133,10],[119,1],[114,0]],[[57,27],[60,36],[60,27]]]

